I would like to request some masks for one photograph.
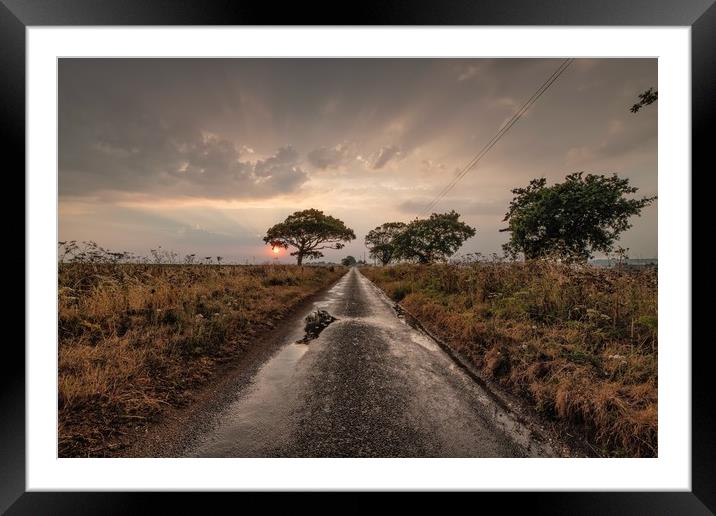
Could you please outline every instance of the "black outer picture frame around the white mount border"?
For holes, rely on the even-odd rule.
[[[708,125],[714,119],[716,6],[714,0],[452,0],[337,4],[231,0],[0,0],[0,131],[4,157],[25,168],[25,29],[65,25],[621,25],[690,26],[692,50],[692,169],[706,173]],[[9,172],[9,171],[8,171]],[[10,175],[8,173],[8,175]],[[25,192],[24,181],[17,189]],[[693,172],[692,172],[693,177]],[[17,198],[24,199],[16,195]],[[17,211],[6,220],[17,220]],[[696,222],[696,220],[694,220]],[[24,225],[7,238],[24,242]],[[6,260],[25,266],[21,253]],[[19,281],[17,278],[15,281]],[[27,278],[26,278],[27,281]],[[7,288],[7,287],[6,287]],[[25,306],[23,304],[23,306]],[[31,306],[26,307],[32,310]],[[684,343],[687,346],[690,343]],[[713,514],[716,511],[714,397],[710,394],[710,339],[692,346],[692,491],[609,493],[484,493],[501,511],[519,507],[537,514]],[[0,390],[0,512],[7,514],[133,514],[151,510],[148,493],[25,492],[25,354],[5,342]],[[179,499],[178,512],[210,504]],[[420,497],[418,497],[418,500]],[[463,503],[460,498],[451,498]],[[166,497],[162,497],[165,503]],[[257,500],[259,503],[263,499]],[[242,502],[245,504],[246,502]],[[422,504],[422,502],[419,502]],[[201,505],[195,505],[201,504]],[[209,505],[208,505],[209,504]],[[351,508],[360,506],[352,502]],[[490,507],[486,505],[484,507]],[[443,509],[445,506],[443,506]],[[162,512],[166,512],[164,506]],[[240,510],[237,507],[237,510]]]

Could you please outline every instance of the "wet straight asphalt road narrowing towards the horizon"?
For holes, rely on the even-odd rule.
[[[296,343],[303,337],[297,321],[187,456],[550,454],[356,268],[316,308],[338,320],[309,344]]]

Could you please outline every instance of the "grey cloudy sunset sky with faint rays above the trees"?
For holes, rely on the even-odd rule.
[[[562,59],[60,59],[59,236],[263,263],[297,210],[365,234],[419,216]],[[577,59],[432,211],[500,253],[511,189],[572,172],[657,195],[656,59]],[[657,257],[657,203],[619,245]],[[293,258],[281,251],[279,260]]]

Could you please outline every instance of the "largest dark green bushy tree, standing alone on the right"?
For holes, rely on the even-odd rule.
[[[656,197],[627,199],[638,188],[616,174],[609,177],[583,172],[570,174],[564,183],[546,186],[533,179],[515,188],[504,221],[511,232],[505,252],[526,259],[555,257],[586,261],[594,251],[608,253],[619,235],[629,229],[629,218],[639,215]]]

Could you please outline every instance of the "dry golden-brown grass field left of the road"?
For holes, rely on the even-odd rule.
[[[60,264],[59,453],[101,456],[342,267]]]

